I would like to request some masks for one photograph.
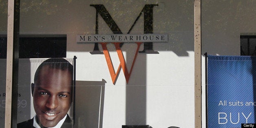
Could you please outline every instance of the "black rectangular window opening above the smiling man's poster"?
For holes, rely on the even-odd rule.
[[[0,38],[0,58],[7,57],[7,38]],[[66,57],[66,37],[22,37],[19,58]]]

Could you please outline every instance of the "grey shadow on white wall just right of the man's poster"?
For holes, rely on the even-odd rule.
[[[77,128],[102,128],[106,81],[76,81]]]

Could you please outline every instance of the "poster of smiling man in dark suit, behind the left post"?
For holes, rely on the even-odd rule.
[[[1,86],[0,98],[5,102],[3,90]],[[20,59],[17,107],[18,128],[72,128],[73,58]],[[1,104],[3,118],[4,108]]]

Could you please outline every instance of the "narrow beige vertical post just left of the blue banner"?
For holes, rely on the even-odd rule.
[[[201,0],[194,0],[195,128],[202,127]]]

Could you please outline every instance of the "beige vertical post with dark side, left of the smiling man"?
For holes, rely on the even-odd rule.
[[[20,0],[8,0],[5,128],[17,128]]]

